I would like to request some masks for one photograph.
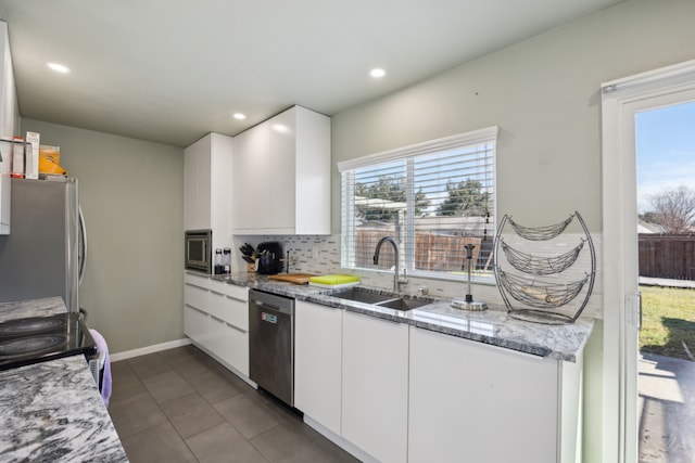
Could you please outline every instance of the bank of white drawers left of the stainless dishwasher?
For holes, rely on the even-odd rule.
[[[197,346],[249,376],[249,290],[186,273],[184,332]]]

